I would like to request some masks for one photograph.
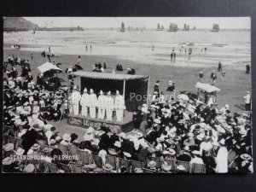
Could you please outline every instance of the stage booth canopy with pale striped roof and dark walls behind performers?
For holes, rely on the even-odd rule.
[[[148,102],[149,77],[143,75],[96,73],[77,71],[70,73],[80,77],[80,91],[86,87],[89,91],[94,90],[98,96],[100,90],[105,94],[110,90],[115,95],[116,90],[125,97],[127,111],[134,112],[138,106]]]

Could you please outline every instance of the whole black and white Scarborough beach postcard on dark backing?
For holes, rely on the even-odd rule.
[[[250,17],[3,17],[2,172],[252,173]]]

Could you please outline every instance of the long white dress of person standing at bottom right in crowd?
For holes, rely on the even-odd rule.
[[[228,172],[228,150],[227,150],[227,148],[221,147],[218,149],[216,161],[217,161],[216,172],[218,172],[218,173]]]

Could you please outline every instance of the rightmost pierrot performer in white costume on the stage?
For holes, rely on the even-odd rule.
[[[116,90],[116,96],[114,98],[113,108],[116,111],[116,121],[123,122],[124,110],[125,110],[125,98],[121,96],[119,90]]]

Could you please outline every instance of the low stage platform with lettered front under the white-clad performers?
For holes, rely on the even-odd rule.
[[[116,118],[113,118],[113,121],[108,121],[106,119],[92,119],[90,115],[88,117],[82,115],[74,115],[73,113],[67,115],[67,124],[75,125],[79,127],[88,128],[89,126],[98,129],[101,126],[108,127],[111,131],[120,130],[124,132],[131,131],[132,126],[132,113],[125,111],[124,121],[122,123],[116,121]]]

